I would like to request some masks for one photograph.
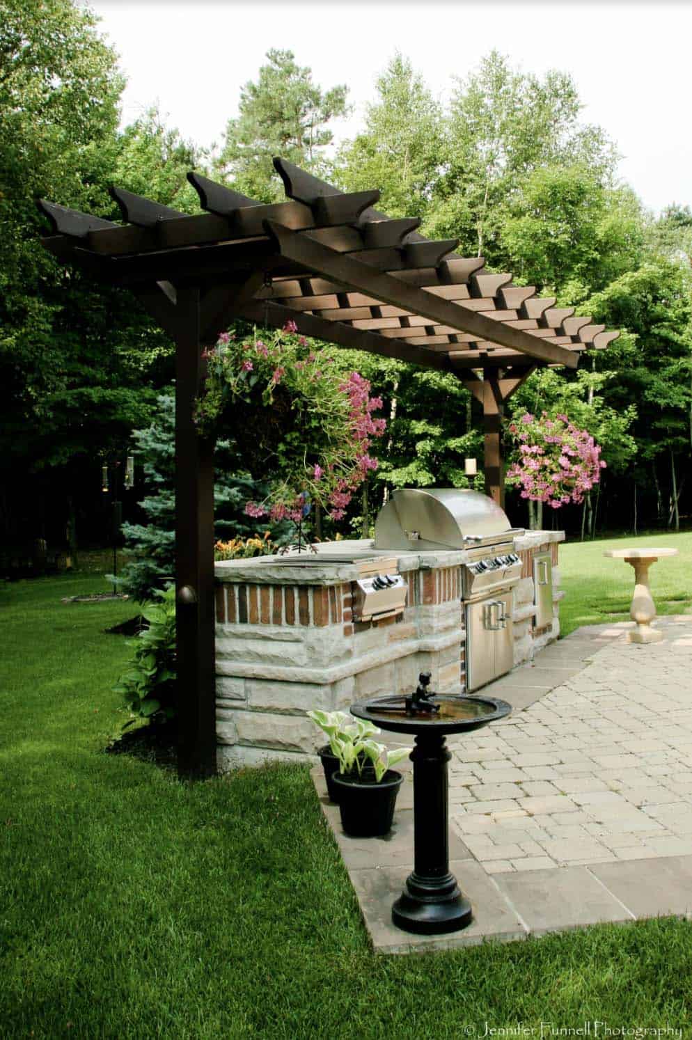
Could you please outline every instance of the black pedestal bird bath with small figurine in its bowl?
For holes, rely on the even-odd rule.
[[[443,696],[428,692],[430,675],[410,697],[360,701],[351,713],[394,733],[414,733],[413,829],[414,866],[391,917],[405,932],[441,935],[466,928],[471,905],[450,873],[447,762],[445,737],[467,733],[504,719],[512,710],[494,698]]]

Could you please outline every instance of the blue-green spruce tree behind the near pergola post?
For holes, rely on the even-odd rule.
[[[149,522],[124,523],[122,527],[126,547],[134,558],[123,569],[119,583],[138,602],[150,600],[175,573],[175,394],[168,391],[157,400],[156,420],[132,435],[136,456],[144,462],[149,494],[139,505]],[[241,472],[237,452],[229,441],[217,443],[214,459],[214,537],[250,538],[258,532],[257,521],[246,516],[245,503],[261,500],[267,489]],[[282,544],[289,540],[292,524],[262,524],[261,534],[266,529],[272,532],[272,541]]]

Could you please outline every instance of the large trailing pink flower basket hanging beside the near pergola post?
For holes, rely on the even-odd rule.
[[[288,320],[270,338],[245,340],[222,333],[206,352],[207,375],[196,422],[206,436],[223,426],[242,450],[253,476],[270,482],[262,501],[248,501],[251,517],[300,522],[316,502],[334,520],[378,462],[382,408],[358,372],[339,373],[315,354]],[[264,335],[264,334],[262,334]]]

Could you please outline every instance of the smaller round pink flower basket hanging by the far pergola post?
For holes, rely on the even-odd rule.
[[[598,483],[606,463],[588,431],[579,430],[566,415],[540,418],[524,412],[509,424],[518,446],[518,460],[507,471],[507,483],[521,488],[521,497],[559,510],[583,502]]]

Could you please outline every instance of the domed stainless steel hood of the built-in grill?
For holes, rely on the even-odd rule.
[[[394,491],[375,523],[376,549],[468,549],[514,534],[487,495],[459,488]]]

